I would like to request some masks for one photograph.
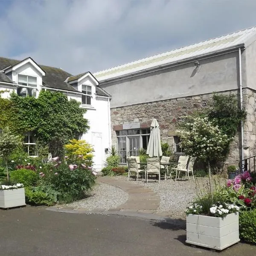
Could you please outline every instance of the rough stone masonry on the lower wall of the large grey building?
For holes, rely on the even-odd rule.
[[[236,90],[223,92],[222,94],[238,93]],[[247,96],[248,94],[248,96]],[[173,136],[176,135],[177,125],[181,116],[191,115],[194,112],[202,112],[209,108],[212,102],[212,93],[192,97],[169,99],[157,102],[148,102],[137,105],[111,108],[112,143],[116,145],[116,131],[122,130],[122,125],[131,122],[140,122],[140,128],[149,128],[153,118],[156,118],[160,125],[161,140],[174,145]],[[255,126],[255,101],[256,93],[245,89],[243,91],[244,103],[248,105],[248,121],[246,122],[244,133],[246,140],[244,145],[248,146],[247,153],[254,148],[256,141]],[[239,163],[239,136],[237,136],[230,146],[230,154],[227,159],[229,164]]]

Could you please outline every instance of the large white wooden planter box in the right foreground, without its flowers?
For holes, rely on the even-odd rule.
[[[194,214],[186,217],[186,243],[223,250],[239,241],[238,212],[223,219]]]

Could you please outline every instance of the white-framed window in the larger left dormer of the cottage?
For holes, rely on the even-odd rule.
[[[37,78],[35,76],[18,75],[17,94],[22,97],[36,96]]]

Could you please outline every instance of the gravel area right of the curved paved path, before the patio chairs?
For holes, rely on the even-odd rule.
[[[155,177],[155,176],[154,176]],[[184,216],[185,209],[197,197],[201,194],[202,189],[209,187],[208,177],[196,178],[196,182],[188,180],[174,181],[174,180],[161,180],[160,184],[154,180],[154,177],[148,178],[148,184],[145,180],[138,180],[138,184],[146,186],[152,189],[157,195],[160,196],[160,206],[157,208],[157,212],[168,212],[173,216]],[[124,180],[127,182],[127,177],[117,176],[116,179]],[[135,180],[129,180],[130,183],[136,183]],[[212,181],[213,182],[213,181]],[[218,181],[217,181],[218,182]],[[219,181],[223,183],[224,180]]]

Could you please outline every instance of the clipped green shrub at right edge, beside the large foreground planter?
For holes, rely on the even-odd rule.
[[[256,244],[256,209],[239,212],[239,234],[244,241]]]

